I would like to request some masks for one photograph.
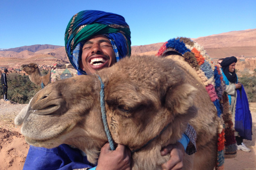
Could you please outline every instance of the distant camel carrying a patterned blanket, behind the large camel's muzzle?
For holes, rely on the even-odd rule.
[[[41,75],[38,65],[35,63],[23,64],[20,70],[25,71],[28,74],[29,80],[42,88],[51,82],[77,75],[77,71],[71,64],[54,64],[51,66],[49,73],[44,76]]]

